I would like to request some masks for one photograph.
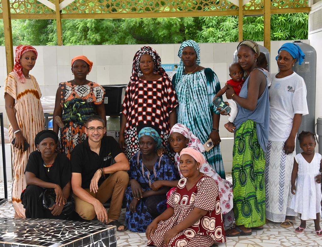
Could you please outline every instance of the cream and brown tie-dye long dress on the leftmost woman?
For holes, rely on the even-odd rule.
[[[5,79],[5,93],[14,98],[14,109],[17,111],[16,119],[21,130],[21,134],[27,139],[30,147],[26,152],[12,148],[12,204],[18,216],[25,218],[24,207],[21,204],[21,192],[26,189],[24,170],[27,165],[29,154],[36,151],[34,144],[35,136],[45,129],[45,118],[43,107],[40,101],[41,92],[39,85],[33,77],[21,83],[14,72],[11,72]],[[9,125],[9,135],[12,141],[14,138],[13,129]]]

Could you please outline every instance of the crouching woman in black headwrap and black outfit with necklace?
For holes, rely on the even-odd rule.
[[[26,170],[27,188],[21,194],[26,209],[26,218],[65,219],[63,207],[71,192],[71,165],[62,153],[56,153],[57,134],[43,130],[35,137],[38,151],[30,154]],[[42,206],[41,193],[52,188],[56,194],[55,203],[46,209]]]

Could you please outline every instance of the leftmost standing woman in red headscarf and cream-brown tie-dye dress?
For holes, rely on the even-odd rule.
[[[36,59],[37,51],[32,46],[17,46],[14,69],[5,79],[5,110],[10,121],[9,135],[11,141],[14,141],[12,204],[16,213],[15,217],[23,218],[25,218],[25,210],[20,196],[26,188],[24,170],[29,154],[36,150],[35,136],[45,128],[43,107],[40,101],[42,93],[36,78],[29,75]]]

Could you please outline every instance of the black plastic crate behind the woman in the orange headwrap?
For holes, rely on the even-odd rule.
[[[105,89],[104,106],[106,116],[120,113],[124,100],[125,90],[128,84],[101,86]]]

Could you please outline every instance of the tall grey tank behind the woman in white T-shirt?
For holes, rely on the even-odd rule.
[[[317,52],[312,46],[301,41],[294,41],[294,44],[298,45],[302,49],[305,54],[305,59],[301,65],[296,63],[293,67],[293,71],[303,77],[308,91],[306,97],[308,101],[308,115],[303,116],[298,133],[301,133],[302,130],[314,133]],[[296,153],[300,153],[298,139],[296,139]]]

